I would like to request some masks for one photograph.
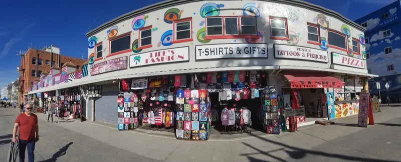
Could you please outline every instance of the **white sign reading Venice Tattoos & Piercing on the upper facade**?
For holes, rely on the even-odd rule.
[[[274,44],[274,56],[276,58],[304,59],[326,63],[329,62],[328,52],[326,50],[294,45]]]

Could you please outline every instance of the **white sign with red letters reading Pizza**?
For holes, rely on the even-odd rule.
[[[331,63],[356,68],[365,68],[364,60],[334,52],[331,52]]]

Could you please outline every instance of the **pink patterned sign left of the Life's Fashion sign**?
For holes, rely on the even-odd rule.
[[[118,57],[90,65],[91,75],[127,68],[127,56]]]

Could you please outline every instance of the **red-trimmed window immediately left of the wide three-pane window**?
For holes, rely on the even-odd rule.
[[[192,17],[173,21],[173,41],[179,43],[193,41],[192,38]]]

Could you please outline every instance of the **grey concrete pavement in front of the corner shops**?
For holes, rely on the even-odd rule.
[[[0,135],[12,133],[12,123],[18,112],[3,108],[0,113]],[[3,113],[10,116],[3,116]],[[401,107],[383,107],[382,112],[374,113],[374,120],[376,123],[387,123],[398,119],[400,114]],[[401,158],[399,154],[372,153],[375,150],[365,149],[366,145],[360,147],[361,144],[357,143],[359,139],[369,141],[367,137],[374,133],[375,128],[388,126],[355,127],[357,115],[338,120],[334,125],[311,125],[294,133],[219,135],[207,141],[177,140],[172,133],[152,130],[145,130],[150,133],[118,131],[115,125],[75,119],[61,122],[55,118],[60,122],[50,123],[46,121],[45,114],[38,114],[38,117],[41,140],[36,149],[45,159],[56,157],[57,161],[313,161],[307,158],[316,158],[314,156],[321,158],[318,161],[397,161]],[[349,137],[358,136],[363,131],[369,134],[356,139]],[[343,137],[354,140],[349,141],[354,145],[339,140]],[[322,146],[325,149],[316,149]],[[0,152],[4,150],[2,148],[0,145]],[[63,153],[67,156],[59,156]]]

